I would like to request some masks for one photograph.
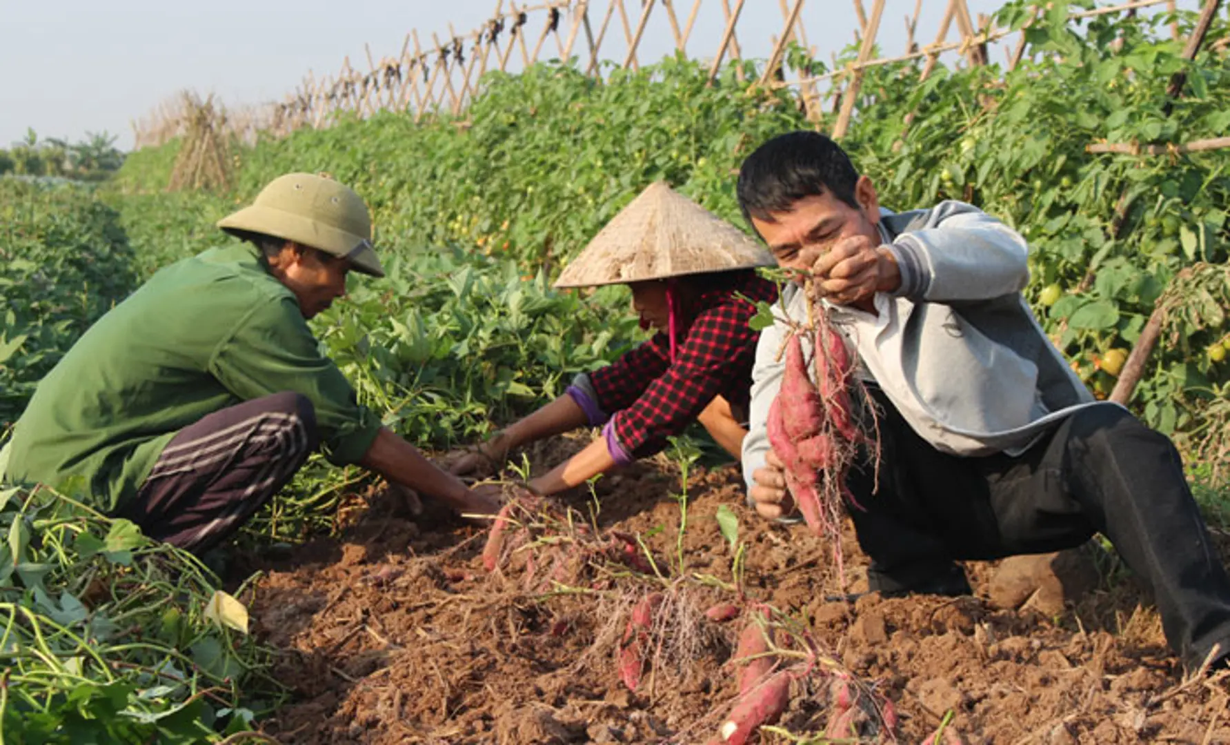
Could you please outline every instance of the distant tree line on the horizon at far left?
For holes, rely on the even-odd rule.
[[[116,172],[124,162],[124,154],[116,148],[117,135],[86,133],[85,139],[69,144],[58,138],[39,139],[33,129],[12,144],[0,149],[0,176],[58,176],[82,181],[100,181]]]

